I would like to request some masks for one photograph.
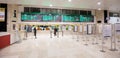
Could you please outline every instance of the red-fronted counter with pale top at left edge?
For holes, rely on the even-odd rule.
[[[0,49],[10,45],[10,34],[0,32]]]

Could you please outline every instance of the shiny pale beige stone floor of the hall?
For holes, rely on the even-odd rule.
[[[28,35],[27,39],[1,49],[0,58],[120,58],[120,43],[117,42],[117,51],[110,51],[109,38],[103,45],[105,52],[101,52],[101,37],[97,35],[64,32],[63,36],[59,33],[59,37],[50,38],[49,32],[39,32],[37,39]]]

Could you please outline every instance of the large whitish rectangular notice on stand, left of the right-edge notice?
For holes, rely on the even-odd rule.
[[[103,25],[102,33],[104,37],[112,36],[112,26],[111,25]]]

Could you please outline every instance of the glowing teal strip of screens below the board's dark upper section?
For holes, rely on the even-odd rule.
[[[94,22],[91,15],[64,15],[21,13],[21,21],[25,22]]]

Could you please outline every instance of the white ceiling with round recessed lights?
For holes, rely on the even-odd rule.
[[[101,5],[97,5],[97,2]],[[37,7],[49,7],[50,4],[53,8],[72,8],[72,9],[98,9],[120,11],[120,0],[0,0],[0,3],[8,4],[22,4]]]

